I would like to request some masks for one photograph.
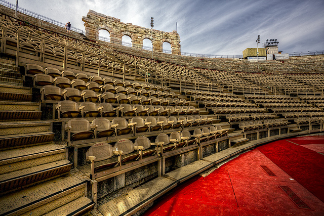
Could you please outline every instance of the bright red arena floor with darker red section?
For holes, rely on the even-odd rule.
[[[259,146],[187,181],[143,215],[324,215],[324,136]]]

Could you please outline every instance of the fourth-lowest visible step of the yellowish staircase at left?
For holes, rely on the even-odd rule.
[[[67,147],[54,143],[0,151],[0,175],[67,159]]]

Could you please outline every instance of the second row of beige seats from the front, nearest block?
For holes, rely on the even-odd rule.
[[[85,118],[72,118],[65,124],[68,142],[76,140],[87,140],[94,137],[111,137],[126,134],[136,134],[152,131],[165,131],[168,129],[177,129],[185,127],[196,127],[212,124],[209,118],[201,118],[200,116],[180,116],[178,119],[174,116],[169,118],[160,116],[157,119],[148,116],[145,119],[139,116],[133,117],[128,122],[125,118],[116,117],[110,122],[106,118],[95,118],[90,123]],[[221,127],[218,127],[221,129]]]

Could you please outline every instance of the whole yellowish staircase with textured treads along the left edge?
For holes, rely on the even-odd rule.
[[[68,148],[54,142],[18,68],[0,61],[0,70],[0,215],[87,213],[89,181],[70,174]]]

